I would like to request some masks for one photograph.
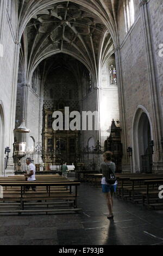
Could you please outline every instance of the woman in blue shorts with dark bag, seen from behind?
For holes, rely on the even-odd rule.
[[[115,166],[115,163],[111,162],[111,158],[112,158],[111,151],[106,151],[103,154],[103,163],[101,163],[101,166],[100,166],[100,171],[103,174],[103,178],[101,181],[102,192],[105,193],[105,195],[106,195],[106,200],[107,200],[107,205],[108,205],[108,210],[109,210],[108,219],[111,219],[114,217],[113,212],[112,212],[112,208],[113,208],[112,196],[113,196],[113,193],[116,192],[116,187],[117,187],[116,180],[115,180],[114,184],[109,184],[106,182],[106,180],[110,179],[110,173],[113,174],[112,175],[113,177],[115,175],[116,166]]]

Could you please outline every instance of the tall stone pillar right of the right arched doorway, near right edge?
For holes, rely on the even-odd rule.
[[[155,69],[155,51],[152,40],[151,22],[149,17],[148,1],[139,0],[140,15],[143,24],[143,34],[145,40],[145,49],[147,54],[149,88],[151,90],[152,99],[152,125],[154,139],[154,156],[153,156],[153,172],[163,172],[163,152],[161,147],[161,138],[163,137],[163,125],[161,118],[161,102],[159,94],[159,86],[157,81],[157,72]]]

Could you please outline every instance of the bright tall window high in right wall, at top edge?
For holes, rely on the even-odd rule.
[[[135,21],[134,0],[124,1],[124,19],[127,33]]]

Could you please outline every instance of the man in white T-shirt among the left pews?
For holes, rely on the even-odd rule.
[[[26,177],[26,179],[28,181],[35,181],[36,180],[36,178],[35,178],[36,168],[35,168],[35,165],[32,163],[32,160],[30,159],[30,157],[28,157],[26,159],[26,163],[28,165],[28,169],[27,169],[27,173],[24,176]],[[32,187],[33,191],[36,191],[36,187],[34,185],[32,185],[31,187]],[[30,189],[30,186],[27,185],[26,192],[29,191],[29,189]]]

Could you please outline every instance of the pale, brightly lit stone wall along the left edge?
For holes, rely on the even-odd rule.
[[[4,148],[9,146],[12,149],[12,143],[14,141],[15,103],[12,99],[16,93],[16,84],[13,83],[15,76],[14,54],[15,48],[17,47],[15,44],[17,3],[16,1],[12,2],[9,13],[7,10],[7,1],[1,1],[0,9],[0,44],[1,48],[3,48],[0,57],[0,102],[4,112],[4,144],[0,146],[2,147],[2,150],[0,149],[0,158],[2,158],[2,162],[4,162]],[[11,111],[13,111],[14,115],[11,114]],[[11,130],[11,132],[9,132],[9,130]],[[12,152],[9,157],[10,156],[12,158]],[[4,164],[1,164],[0,174],[2,174],[3,170]]]

